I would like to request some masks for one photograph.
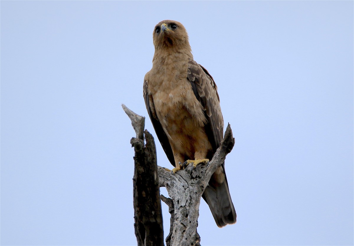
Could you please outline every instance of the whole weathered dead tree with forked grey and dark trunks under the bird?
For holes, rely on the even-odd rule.
[[[169,206],[171,214],[166,245],[200,245],[197,232],[200,199],[211,175],[222,165],[235,144],[230,124],[210,162],[198,164],[196,168],[188,165],[173,174],[157,166],[154,138],[147,130],[143,131],[145,117],[135,114],[125,105],[122,107],[136,132],[136,138],[130,142],[135,149],[134,227],[138,245],[164,245],[160,198]],[[160,196],[160,187],[166,187],[170,198]]]

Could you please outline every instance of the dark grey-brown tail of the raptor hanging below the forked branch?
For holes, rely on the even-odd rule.
[[[225,174],[225,172],[223,172]],[[202,198],[210,207],[218,227],[236,223],[235,207],[232,203],[227,179],[222,183],[210,179],[209,186],[205,188]]]

